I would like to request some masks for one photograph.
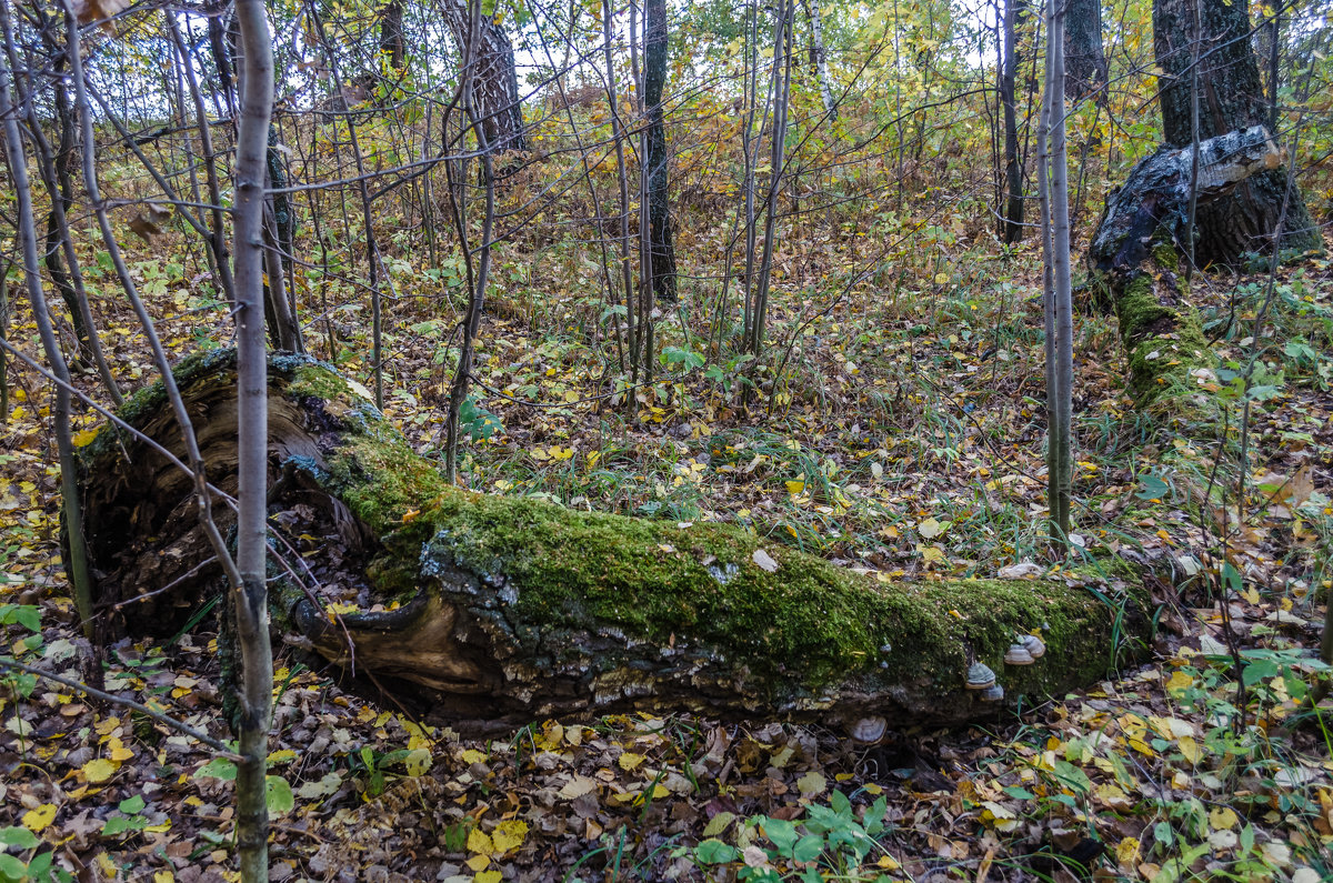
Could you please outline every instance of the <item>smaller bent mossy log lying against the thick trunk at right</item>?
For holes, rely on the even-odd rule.
[[[1280,161],[1261,125],[1201,141],[1197,203],[1218,200]],[[1189,148],[1162,148],[1140,161],[1106,199],[1088,248],[1093,288],[1120,320],[1130,385],[1142,399],[1153,397],[1172,380],[1184,380],[1193,368],[1212,367],[1208,340],[1180,272],[1192,165]]]

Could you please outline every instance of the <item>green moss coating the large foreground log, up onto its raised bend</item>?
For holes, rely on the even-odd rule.
[[[445,600],[472,604],[472,590],[453,588],[448,574],[473,575],[500,587],[493,620],[515,648],[564,648],[553,670],[584,652],[583,635],[616,635],[625,646],[689,642],[792,696],[848,679],[865,691],[904,680],[957,690],[969,655],[1002,672],[1012,691],[1058,691],[1114,662],[1114,612],[1088,591],[1013,580],[881,583],[730,526],[680,527],[447,487],[377,412],[340,407],[355,393],[339,383],[329,369],[305,365],[289,392],[337,396],[324,407],[345,427],[320,480],[384,538],[387,551],[371,567],[380,600],[404,603],[427,579]],[[756,563],[760,550],[777,564],[772,572]],[[1061,662],[1005,671],[1005,650],[1029,631]]]

